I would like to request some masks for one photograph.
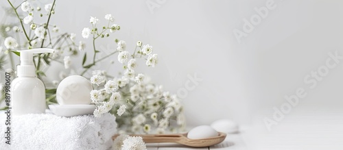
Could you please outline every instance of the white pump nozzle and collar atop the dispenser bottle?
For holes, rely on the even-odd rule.
[[[36,68],[34,68],[34,53],[53,53],[54,49],[29,49],[29,50],[20,50],[21,53],[20,60],[21,64],[17,66],[17,75],[23,77],[35,77]]]

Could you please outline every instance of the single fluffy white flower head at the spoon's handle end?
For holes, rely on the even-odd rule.
[[[121,150],[146,150],[147,147],[140,136],[130,136],[123,141]]]

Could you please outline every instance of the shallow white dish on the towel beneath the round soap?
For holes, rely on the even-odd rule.
[[[52,113],[56,116],[78,116],[93,114],[95,105],[49,105]]]

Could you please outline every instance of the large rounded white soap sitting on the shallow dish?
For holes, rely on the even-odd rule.
[[[56,99],[60,105],[91,104],[91,82],[80,75],[66,77],[58,84]]]

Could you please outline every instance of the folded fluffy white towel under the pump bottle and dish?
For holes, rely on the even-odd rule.
[[[109,149],[117,123],[112,114],[62,117],[12,116],[11,145],[5,144],[5,113],[0,112],[0,149]]]

